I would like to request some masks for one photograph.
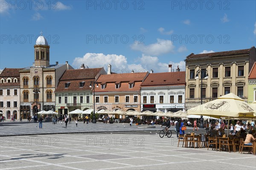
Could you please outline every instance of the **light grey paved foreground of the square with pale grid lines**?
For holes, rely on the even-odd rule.
[[[55,134],[0,138],[1,170],[256,169],[256,156],[177,147],[158,134]]]

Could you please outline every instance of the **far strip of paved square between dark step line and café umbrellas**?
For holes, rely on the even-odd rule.
[[[72,122],[67,124],[67,128],[64,128],[65,123],[62,122],[62,125],[58,124],[53,125],[52,122],[43,122],[43,129],[39,129],[39,123],[34,122],[1,122],[0,123],[0,136],[6,135],[26,135],[26,134],[49,134],[49,133],[104,133],[104,132],[128,132],[128,131],[160,131],[161,126],[156,125],[155,128],[138,128],[136,125],[130,127],[129,124],[122,123],[89,123],[84,124],[83,122],[78,122],[78,127],[76,123]],[[147,125],[151,126],[151,125]],[[152,126],[151,126],[152,127]],[[171,128],[174,130],[174,127]]]

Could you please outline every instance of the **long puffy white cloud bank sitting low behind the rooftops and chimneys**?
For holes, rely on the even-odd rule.
[[[112,71],[116,73],[129,73],[131,70],[134,70],[135,72],[146,72],[151,69],[155,73],[168,72],[168,63],[159,62],[158,57],[145,54],[138,57],[137,63],[128,64],[127,58],[123,55],[87,53],[83,57],[76,57],[72,65],[74,68],[80,68],[83,63],[88,65],[89,68],[104,67],[105,71],[107,71],[108,64],[111,64]],[[184,61],[177,63],[170,61],[169,63],[173,65],[172,68],[176,69],[177,65],[179,65],[181,71],[185,71],[186,64]]]

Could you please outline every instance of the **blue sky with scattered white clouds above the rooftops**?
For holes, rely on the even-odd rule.
[[[191,53],[255,46],[255,7],[254,0],[0,0],[0,69],[31,66],[42,31],[51,64],[185,71]]]

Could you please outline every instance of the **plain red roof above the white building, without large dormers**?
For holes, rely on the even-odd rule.
[[[152,73],[144,80],[141,86],[160,86],[160,85],[186,85],[186,72],[165,72]]]

